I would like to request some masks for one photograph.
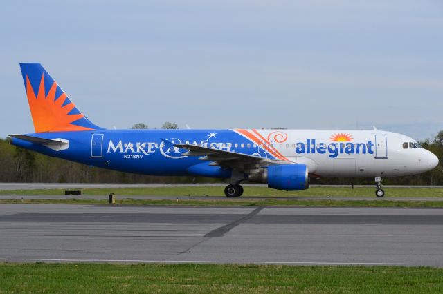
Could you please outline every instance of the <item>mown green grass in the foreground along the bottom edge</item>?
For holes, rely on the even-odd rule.
[[[0,293],[443,293],[442,268],[0,264]]]

